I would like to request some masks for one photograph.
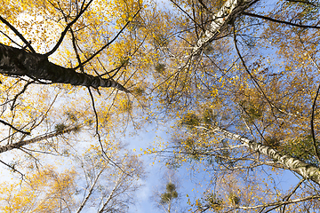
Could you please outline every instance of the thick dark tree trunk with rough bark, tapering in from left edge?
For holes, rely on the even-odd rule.
[[[72,68],[61,67],[50,62],[44,55],[0,43],[0,73],[10,76],[27,75],[38,80],[52,83],[69,83],[76,86],[93,88],[114,87],[128,92],[120,83],[112,79],[77,73]]]

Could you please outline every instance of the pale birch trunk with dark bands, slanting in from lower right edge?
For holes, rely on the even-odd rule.
[[[244,138],[240,135],[232,133],[228,130],[224,130],[220,127],[214,127],[213,132],[219,134],[224,138],[229,138],[233,140],[239,140],[244,146],[247,146],[253,151],[256,151],[260,154],[265,154],[275,162],[278,162],[284,165],[288,170],[292,170],[300,174],[300,176],[305,177],[307,179],[311,179],[320,185],[320,168],[308,164],[306,162],[301,162],[299,159],[296,159],[292,156],[286,154],[280,154],[275,149],[262,145],[258,142],[250,140],[248,138]]]

